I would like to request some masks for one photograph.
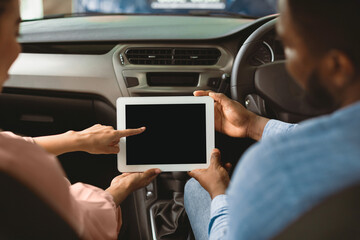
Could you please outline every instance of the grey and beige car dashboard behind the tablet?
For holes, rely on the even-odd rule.
[[[97,16],[23,22],[23,53],[5,87],[118,97],[192,95],[217,90],[260,20],[210,17]],[[249,59],[283,59],[275,33]],[[225,74],[225,75],[224,75]]]

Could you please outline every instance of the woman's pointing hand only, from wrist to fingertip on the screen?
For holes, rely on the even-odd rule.
[[[96,124],[78,132],[79,150],[92,154],[111,154],[119,152],[119,141],[145,131],[145,127],[137,129],[114,130],[111,126]]]

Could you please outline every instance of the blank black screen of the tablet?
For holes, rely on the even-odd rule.
[[[206,163],[205,104],[126,105],[126,164]]]

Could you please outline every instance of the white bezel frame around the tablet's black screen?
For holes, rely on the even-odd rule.
[[[121,97],[116,101],[117,129],[125,129],[126,105],[146,104],[205,104],[206,124],[206,163],[202,164],[154,164],[154,165],[126,165],[126,138],[119,142],[118,170],[120,172],[143,172],[150,168],[159,168],[163,172],[191,171],[207,168],[210,164],[211,152],[215,146],[214,129],[214,100],[211,97]],[[189,136],[190,137],[190,136]],[[186,149],[185,149],[186,150]],[[189,153],[191,154],[191,153]]]

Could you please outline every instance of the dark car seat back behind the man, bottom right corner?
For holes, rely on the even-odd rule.
[[[330,196],[274,240],[360,239],[360,184]]]

